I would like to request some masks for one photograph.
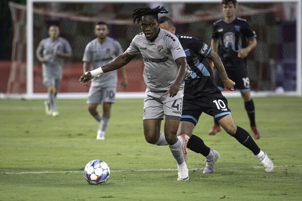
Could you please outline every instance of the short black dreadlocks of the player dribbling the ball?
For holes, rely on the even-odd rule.
[[[132,13],[131,19],[133,23],[139,23],[141,22],[143,16],[150,15],[156,18],[156,20],[158,21],[159,13],[169,13],[169,11],[167,11],[164,6],[157,6],[156,8],[150,8],[149,6],[146,6],[145,8],[136,8]]]

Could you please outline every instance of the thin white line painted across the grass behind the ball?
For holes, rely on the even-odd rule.
[[[297,165],[276,165],[275,167],[302,167],[302,164]],[[263,168],[263,166],[251,166],[251,167],[217,167],[215,169],[250,169],[250,168]],[[204,168],[189,168],[189,170],[202,170]],[[110,170],[110,172],[155,172],[155,171],[176,171],[177,169],[124,169],[124,170]],[[66,174],[66,173],[83,173],[83,171],[40,171],[40,172],[0,172],[0,174]]]

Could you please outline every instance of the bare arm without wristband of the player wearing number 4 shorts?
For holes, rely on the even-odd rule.
[[[170,86],[169,90],[166,92],[166,94],[169,94],[170,97],[174,97],[178,93],[180,85],[184,81],[185,76],[187,74],[187,58],[180,57],[176,59],[175,62],[179,69],[175,82]]]

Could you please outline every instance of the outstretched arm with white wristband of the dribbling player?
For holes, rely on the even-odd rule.
[[[107,73],[107,72],[110,72],[110,71],[114,71],[116,69],[119,69],[119,68],[125,66],[134,57],[135,57],[135,55],[129,55],[126,51],[123,54],[115,57],[111,62],[109,62],[105,66],[101,66],[97,69],[94,69],[93,71],[89,71],[89,72],[86,72],[86,73],[82,74],[80,79],[79,79],[79,82],[82,85],[86,85],[89,80],[93,79],[94,77],[98,77],[102,73]]]

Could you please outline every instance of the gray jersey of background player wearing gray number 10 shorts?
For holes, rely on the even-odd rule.
[[[108,64],[116,56],[121,55],[122,53],[123,50],[121,45],[113,38],[107,37],[103,44],[99,43],[97,38],[95,38],[87,44],[83,56],[83,62],[91,62],[94,70],[98,67]],[[116,87],[116,85],[116,71],[104,73],[92,79],[92,86]]]

